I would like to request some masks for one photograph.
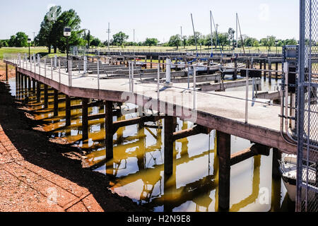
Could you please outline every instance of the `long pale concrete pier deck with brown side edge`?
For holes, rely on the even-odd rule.
[[[71,97],[129,102],[146,109],[158,110],[164,114],[168,113],[168,106],[172,106],[175,117],[193,121],[209,129],[216,129],[223,133],[245,138],[254,143],[276,148],[284,153],[297,153],[297,146],[286,143],[281,136],[280,117],[278,117],[281,111],[280,107],[265,107],[261,103],[255,103],[252,107],[252,102],[249,102],[248,123],[245,123],[245,100],[240,99],[245,98],[245,92],[201,93],[197,91],[194,92],[196,95],[196,107],[194,108],[193,91],[189,92],[182,89],[187,88],[187,83],[177,83],[174,84],[174,87],[165,89],[161,85],[160,89],[162,90],[158,103],[156,102],[158,86],[155,83],[135,81],[134,92],[131,93],[129,92],[128,78],[100,79],[98,89],[98,78],[95,74],[83,76],[83,74],[73,71],[70,85],[69,75],[65,71],[61,73],[61,78],[59,78],[58,70],[51,73],[49,66],[47,66],[45,75],[43,65],[39,72],[38,66],[34,67],[33,65],[30,69],[30,64],[25,64],[23,69],[11,61],[4,62],[16,66],[19,73],[30,76],[30,78],[34,78]],[[100,78],[102,77],[104,76],[100,76]],[[138,76],[135,76],[135,78],[138,78]],[[249,99],[252,99],[252,92],[249,92]],[[150,100],[156,104],[151,105]],[[165,108],[160,109],[160,105],[165,106]],[[178,114],[180,107],[183,109],[181,115]],[[193,111],[192,118],[184,114],[184,109],[189,109],[189,112]]]

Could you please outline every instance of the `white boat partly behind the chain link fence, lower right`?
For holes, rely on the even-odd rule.
[[[280,172],[281,177],[283,178],[283,183],[285,185],[285,188],[288,191],[288,196],[290,197],[290,200],[295,202],[296,195],[297,195],[297,155],[286,155],[283,157],[283,160],[280,162]],[[316,183],[316,171],[314,170],[314,167],[310,167],[308,170],[309,176],[309,184],[314,185]],[[307,169],[303,169],[302,171],[302,182],[307,181]],[[302,189],[302,201],[305,201],[306,191],[305,189]],[[314,193],[309,192],[308,193],[308,201],[313,200]]]

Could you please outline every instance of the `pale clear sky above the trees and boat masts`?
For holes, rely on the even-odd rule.
[[[40,23],[49,5],[59,5],[62,10],[73,8],[81,17],[81,28],[101,40],[107,40],[107,25],[111,35],[123,31],[133,40],[143,41],[156,37],[160,42],[180,33],[192,35],[190,13],[194,17],[196,31],[210,32],[210,13],[219,24],[218,30],[235,29],[235,13],[240,18],[242,33],[251,37],[275,35],[277,38],[298,39],[298,0],[159,0],[159,1],[109,1],[109,0],[16,0],[0,3],[0,39],[8,39],[18,31],[33,38],[40,30]]]

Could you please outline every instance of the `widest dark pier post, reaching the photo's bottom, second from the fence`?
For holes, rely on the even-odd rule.
[[[230,156],[231,136],[230,134],[218,131],[217,150],[219,158],[218,178],[218,209],[220,211],[230,210]]]

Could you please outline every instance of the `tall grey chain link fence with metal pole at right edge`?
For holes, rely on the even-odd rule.
[[[298,211],[318,212],[318,0],[300,0]]]

